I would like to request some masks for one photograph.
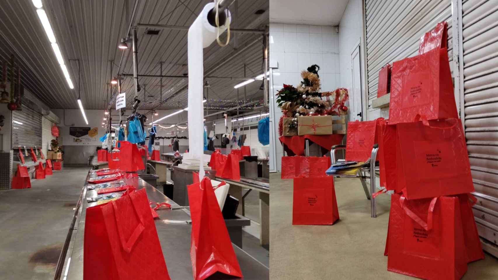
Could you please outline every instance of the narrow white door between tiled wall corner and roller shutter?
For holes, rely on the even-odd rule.
[[[360,61],[360,45],[356,46],[355,50],[351,54],[351,75],[353,81],[353,93],[350,93],[350,97],[353,97],[350,103],[350,120],[362,121],[363,109],[362,109],[362,72],[361,72],[361,61]]]

